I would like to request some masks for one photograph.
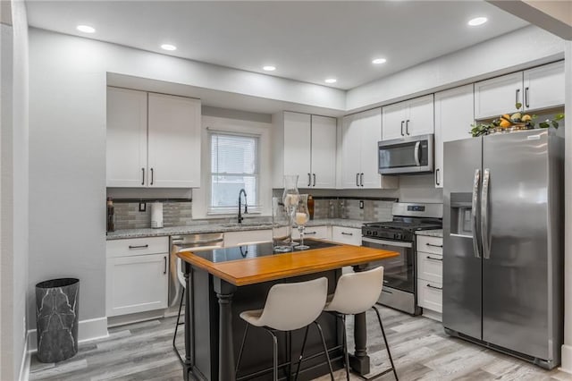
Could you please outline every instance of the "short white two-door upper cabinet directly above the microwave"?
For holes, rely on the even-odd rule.
[[[433,133],[433,94],[383,107],[382,140]]]

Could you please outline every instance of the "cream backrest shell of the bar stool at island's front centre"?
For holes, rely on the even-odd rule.
[[[328,280],[324,277],[294,284],[274,284],[258,322],[280,331],[312,323],[324,310]]]

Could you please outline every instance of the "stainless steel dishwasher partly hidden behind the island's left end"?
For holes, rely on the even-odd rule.
[[[184,250],[206,250],[222,248],[224,233],[202,233],[172,235],[170,239],[171,255],[169,258],[169,307],[181,301],[182,282],[184,282],[181,260],[177,253]]]

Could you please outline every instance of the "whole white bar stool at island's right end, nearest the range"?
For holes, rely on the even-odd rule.
[[[375,307],[375,302],[379,299],[383,287],[383,267],[376,267],[372,270],[363,271],[359,273],[350,273],[340,276],[336,291],[333,295],[328,297],[328,302],[324,307],[324,311],[332,312],[337,318],[341,318],[343,325],[343,351],[346,363],[346,378],[349,380],[349,355],[348,355],[348,339],[346,338],[346,315],[357,315],[366,312],[368,309],[374,309],[377,314],[379,326],[382,328],[383,341],[387,354],[389,355],[391,368],[383,371],[374,377],[366,379],[374,379],[380,377],[391,370],[396,380],[397,372],[391,359],[390,346],[385,337],[385,330],[383,329],[382,317],[379,310]]]

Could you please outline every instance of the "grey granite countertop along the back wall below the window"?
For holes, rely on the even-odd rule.
[[[307,223],[307,226],[342,226],[361,228],[362,224],[369,221],[349,220],[343,218],[315,219]],[[204,221],[198,221],[196,224],[185,226],[171,226],[161,229],[124,229],[107,233],[107,240],[120,240],[122,238],[139,238],[139,237],[160,237],[166,235],[177,234],[194,234],[194,233],[224,233],[224,232],[243,232],[248,230],[264,230],[272,229],[269,222],[243,222],[242,224],[208,224]]]

